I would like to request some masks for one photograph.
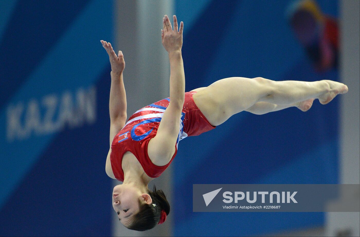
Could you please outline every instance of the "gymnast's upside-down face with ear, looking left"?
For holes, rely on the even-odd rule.
[[[141,193],[137,188],[129,184],[119,184],[114,187],[112,204],[120,222],[129,225],[132,218],[139,212],[140,203],[146,203],[148,198],[145,193]]]

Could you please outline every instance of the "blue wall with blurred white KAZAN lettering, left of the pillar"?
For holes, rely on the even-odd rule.
[[[109,236],[111,68],[100,40],[112,41],[113,2],[0,8],[0,235]],[[9,111],[18,105],[21,126],[11,135]]]

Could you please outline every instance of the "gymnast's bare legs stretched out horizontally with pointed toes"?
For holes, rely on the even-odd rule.
[[[201,88],[193,98],[209,122],[218,126],[244,110],[264,114],[296,106],[306,111],[314,99],[327,104],[347,91],[343,83],[330,80],[304,82],[229,77]]]

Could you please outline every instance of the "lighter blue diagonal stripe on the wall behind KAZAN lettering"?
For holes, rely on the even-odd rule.
[[[99,11],[99,9],[102,9]],[[94,17],[96,12],[96,17]],[[100,73],[109,65],[109,58],[103,55],[103,47],[99,47],[99,36],[111,39],[111,30],[104,27],[103,22],[108,22],[112,16],[112,3],[92,0],[78,13],[69,28],[59,36],[48,54],[33,69],[32,74],[23,82],[22,86],[13,94],[9,104],[0,110],[0,133],[6,134],[6,111],[9,105],[27,102],[30,99],[41,99],[48,94],[59,94],[68,90],[88,88],[92,86]],[[91,27],[90,27],[91,26]],[[84,54],[78,50],[78,44],[91,48]],[[69,57],[71,55],[71,57]],[[86,60],[86,63],[78,63]],[[59,63],[61,62],[61,63]],[[67,70],[64,70],[67,68]],[[39,86],[41,85],[41,87]],[[22,143],[18,149],[13,143],[6,141],[6,136],[0,137],[4,157],[14,157],[17,162],[8,162],[0,159],[0,208],[17,186],[19,181],[40,157],[40,154],[53,140],[56,133],[44,136],[32,136],[27,142]],[[13,174],[17,175],[14,176]]]

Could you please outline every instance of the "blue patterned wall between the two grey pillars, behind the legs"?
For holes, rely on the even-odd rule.
[[[233,76],[339,81],[316,73],[288,25],[289,1],[176,1],[184,21],[186,91]],[[317,1],[337,16],[337,1]],[[179,144],[174,166],[176,236],[249,236],[324,224],[324,213],[193,213],[199,183],[337,183],[338,98],[303,113],[242,112]]]

